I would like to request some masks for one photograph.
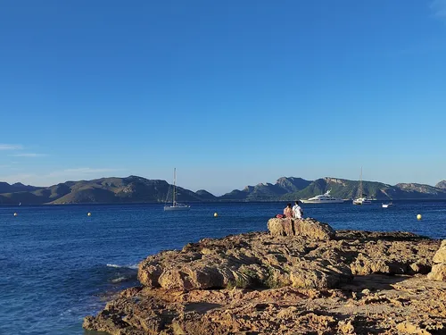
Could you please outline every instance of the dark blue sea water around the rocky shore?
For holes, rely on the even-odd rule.
[[[0,334],[84,334],[82,318],[136,285],[136,266],[147,255],[202,238],[266,230],[268,218],[284,207],[218,203],[163,212],[162,205],[0,206]],[[405,230],[446,239],[446,202],[303,208],[305,216],[335,229]]]

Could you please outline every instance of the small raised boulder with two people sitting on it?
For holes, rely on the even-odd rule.
[[[310,239],[333,239],[335,230],[316,219],[274,218],[268,220],[268,230],[273,236],[302,236]]]

